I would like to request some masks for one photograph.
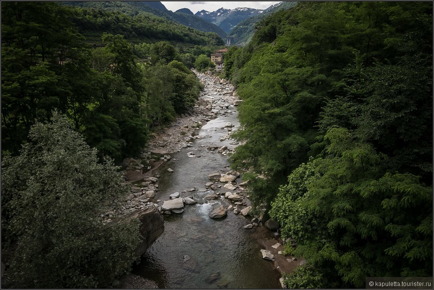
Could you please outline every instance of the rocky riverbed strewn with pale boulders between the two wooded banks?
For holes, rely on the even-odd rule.
[[[298,264],[297,260],[282,255],[284,242],[272,235],[272,231],[276,231],[272,222],[250,216],[250,202],[244,193],[247,184],[241,182],[239,172],[228,168],[225,156],[237,145],[231,134],[238,126],[236,106],[241,101],[227,81],[195,73],[205,84],[197,106],[179,116],[161,133],[153,134],[154,139],[143,150],[141,159],[124,160],[125,179],[133,184],[132,191],[121,208],[108,210],[103,218],[110,222],[115,212],[131,215],[150,207],[165,216],[165,232],[151,246],[149,257],[142,258],[142,265],[136,267],[134,273],[144,279],[135,281],[152,281],[152,288],[155,285],[159,288],[197,288],[203,286],[201,283],[207,288],[278,288],[280,273],[276,274],[277,270],[283,272],[293,268]],[[215,222],[210,223],[213,220]],[[181,229],[184,230],[180,232]],[[222,237],[224,232],[232,238]],[[189,246],[193,243],[196,249],[190,252],[173,244],[174,241],[184,241]],[[210,243],[219,246],[210,249]],[[241,245],[228,247],[227,243]],[[280,243],[279,251],[274,251],[270,243]],[[219,251],[218,247],[227,249]],[[251,252],[253,248],[256,250]],[[171,249],[170,255],[168,249]],[[260,250],[270,253],[263,255]],[[204,251],[210,255],[205,255],[206,260],[198,256]],[[231,268],[224,266],[227,261],[216,256],[234,252],[237,255],[243,253],[245,257],[233,261],[241,265],[229,271],[227,269]],[[260,259],[261,254],[264,260]],[[159,261],[161,255],[165,261]],[[168,269],[176,265],[176,268]],[[219,267],[230,273],[217,271]],[[241,271],[239,267],[245,270]],[[267,281],[259,279],[258,272]],[[184,276],[189,273],[197,274],[197,281],[186,280]],[[168,279],[171,275],[177,278]],[[239,284],[233,275],[245,276],[243,279],[250,281]]]

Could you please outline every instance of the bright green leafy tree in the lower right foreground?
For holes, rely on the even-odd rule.
[[[325,156],[294,170],[270,215],[284,238],[332,288],[360,288],[366,277],[432,275],[433,188],[388,172],[387,157],[346,129],[325,135]]]

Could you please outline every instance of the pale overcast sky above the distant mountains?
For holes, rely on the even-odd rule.
[[[213,12],[223,7],[234,9],[239,7],[248,7],[256,9],[266,9],[269,6],[281,1],[161,1],[167,9],[175,12],[181,8],[189,8],[193,13],[200,10]]]

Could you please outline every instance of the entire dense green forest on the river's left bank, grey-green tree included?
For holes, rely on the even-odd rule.
[[[222,43],[146,12],[1,2],[2,287],[101,288],[130,269],[138,224],[100,218],[129,192],[114,164],[195,105],[191,68]]]

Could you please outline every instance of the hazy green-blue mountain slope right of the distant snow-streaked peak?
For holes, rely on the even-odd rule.
[[[256,23],[262,18],[271,15],[272,13],[281,10],[289,9],[294,7],[297,1],[283,1],[274,5],[271,5],[267,9],[263,10],[261,14],[255,15],[253,17],[246,18],[240,21],[229,33],[228,37],[233,37],[234,42],[238,45],[246,45],[253,36],[254,28]]]

